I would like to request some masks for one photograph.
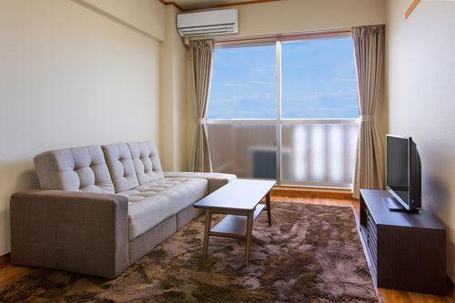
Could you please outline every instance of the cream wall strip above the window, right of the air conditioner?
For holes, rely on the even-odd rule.
[[[386,21],[385,0],[286,0],[232,8],[238,9],[239,33],[223,36],[287,34]]]

